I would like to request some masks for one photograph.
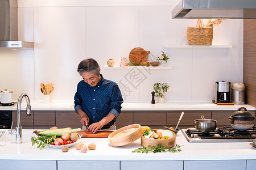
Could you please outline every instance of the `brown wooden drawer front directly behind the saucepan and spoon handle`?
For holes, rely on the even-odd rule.
[[[181,111],[168,111],[167,126],[175,128],[177,122],[179,121],[180,114]],[[195,120],[201,118],[201,115],[203,115],[205,118],[210,118],[211,111],[184,111],[183,118],[180,121],[178,128],[193,128],[195,126]]]

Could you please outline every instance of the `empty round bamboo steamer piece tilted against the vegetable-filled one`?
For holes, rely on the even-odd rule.
[[[131,128],[137,128],[135,131],[133,131],[133,133],[127,133],[128,129]],[[122,133],[125,134],[121,137],[114,137],[115,134],[117,133]],[[136,141],[137,139],[141,138],[143,135],[143,131],[141,129],[141,125],[139,124],[133,124],[133,125],[128,125],[125,126],[123,128],[120,128],[118,130],[113,131],[112,133],[110,133],[109,135],[109,142],[111,146],[123,146],[123,145],[127,145],[131,142]]]

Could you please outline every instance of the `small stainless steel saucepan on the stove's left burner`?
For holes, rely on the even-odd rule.
[[[217,121],[212,119],[205,119],[204,116],[201,116],[202,119],[195,120],[196,130],[202,132],[214,131],[217,128]]]

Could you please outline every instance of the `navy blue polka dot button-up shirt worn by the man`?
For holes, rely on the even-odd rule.
[[[100,74],[101,75],[101,74]],[[101,79],[94,87],[81,80],[77,84],[75,94],[75,111],[82,109],[90,118],[90,124],[101,121],[109,113],[113,113],[115,118],[110,122],[115,122],[121,112],[123,98],[117,83]]]

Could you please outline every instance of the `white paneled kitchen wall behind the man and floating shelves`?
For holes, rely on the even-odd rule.
[[[167,102],[213,100],[214,82],[242,82],[243,20],[226,19],[213,28],[212,45],[233,48],[163,48],[188,45],[187,27],[196,19],[172,19],[169,1],[46,1],[19,2],[19,40],[34,41],[34,49],[0,49],[0,90],[14,91],[13,100],[26,92],[42,100],[40,83],[52,82],[51,100],[73,100],[81,77],[77,65],[94,58],[104,78],[122,88],[125,101],[150,101],[154,83],[168,83]],[[126,3],[124,3],[126,2]],[[48,5],[47,5],[48,4]],[[159,5],[158,5],[159,4]],[[168,6],[164,6],[164,5]],[[231,29],[232,28],[232,29]],[[141,46],[155,61],[163,51],[172,70],[106,70],[130,50]],[[122,87],[121,87],[122,86]]]

